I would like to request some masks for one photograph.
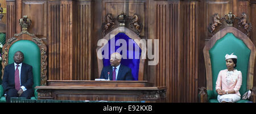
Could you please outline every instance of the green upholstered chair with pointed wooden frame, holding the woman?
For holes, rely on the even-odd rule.
[[[216,80],[219,71],[226,69],[225,55],[231,53],[238,57],[236,69],[242,72],[242,86],[239,90],[241,96],[253,87],[255,46],[249,37],[238,29],[226,27],[212,36],[204,47],[207,96],[199,95],[201,102],[218,103],[215,91]],[[249,100],[238,101],[238,103],[242,102]]]

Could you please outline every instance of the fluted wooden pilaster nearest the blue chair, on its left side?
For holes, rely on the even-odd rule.
[[[75,80],[91,80],[92,3],[77,2],[77,32],[75,42]]]

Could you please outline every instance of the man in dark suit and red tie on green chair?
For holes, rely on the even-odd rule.
[[[14,63],[7,65],[3,73],[2,86],[7,103],[11,97],[30,99],[34,93],[32,66],[23,63],[24,55],[20,51],[15,52],[13,58]]]

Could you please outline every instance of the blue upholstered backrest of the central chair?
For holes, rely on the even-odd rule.
[[[122,40],[123,39],[123,40]],[[114,44],[115,43],[115,44]],[[125,48],[125,44],[127,44],[127,47]],[[139,74],[139,61],[141,58],[141,48],[135,43],[133,39],[131,39],[129,36],[127,36],[125,33],[118,33],[115,35],[114,38],[110,39],[108,41],[108,44],[106,44],[102,48],[102,55],[104,55],[104,49],[109,50],[108,56],[104,56],[103,58],[103,65],[109,66],[110,65],[110,55],[114,52],[119,52],[122,55],[121,64],[128,66],[131,68],[131,74],[133,74],[133,80],[138,81],[138,74]],[[111,47],[111,48],[110,48]],[[129,48],[130,47],[130,48]],[[121,49],[127,49],[126,54],[124,50]],[[124,58],[126,56],[126,58]],[[106,58],[107,57],[107,58]]]

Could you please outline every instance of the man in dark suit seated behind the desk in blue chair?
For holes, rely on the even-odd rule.
[[[130,67],[121,65],[121,59],[121,54],[111,54],[110,66],[103,67],[100,78],[110,79],[110,81],[133,81]]]

